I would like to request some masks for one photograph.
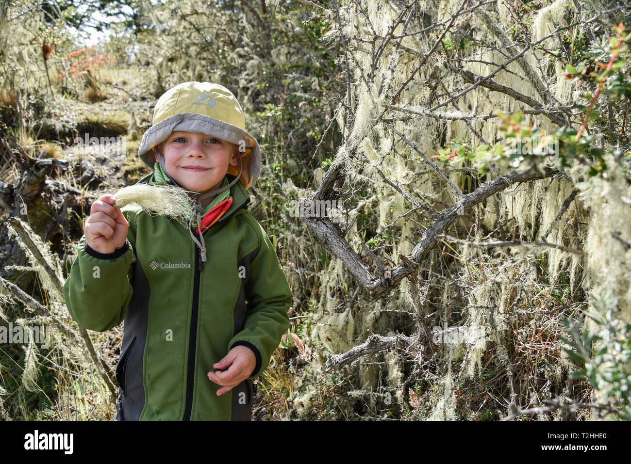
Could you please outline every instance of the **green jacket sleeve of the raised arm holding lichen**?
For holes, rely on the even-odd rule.
[[[64,298],[70,316],[81,327],[105,332],[125,318],[133,294],[136,255],[135,215],[121,209],[129,223],[125,244],[113,253],[99,253],[81,236],[78,255],[64,282]]]

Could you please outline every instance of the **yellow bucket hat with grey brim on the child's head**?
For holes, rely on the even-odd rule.
[[[259,142],[245,131],[241,105],[224,86],[191,81],[177,84],[163,93],[153,110],[151,127],[143,134],[138,158],[150,168],[153,168],[155,161],[162,162],[164,166],[163,155],[157,145],[175,131],[202,132],[239,147],[240,169],[228,166],[228,174],[237,178],[210,194],[230,188],[237,179],[246,190],[256,182],[261,172]]]

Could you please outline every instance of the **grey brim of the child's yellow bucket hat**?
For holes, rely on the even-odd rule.
[[[151,126],[143,134],[138,148],[138,158],[145,165],[153,168],[155,163],[153,148],[168,139],[168,136],[175,131],[201,132],[238,146],[244,146],[245,151],[240,151],[243,165],[240,181],[246,190],[256,182],[261,172],[259,142],[240,127],[199,113],[179,113]],[[228,166],[228,173],[236,176],[239,174],[239,168]]]

